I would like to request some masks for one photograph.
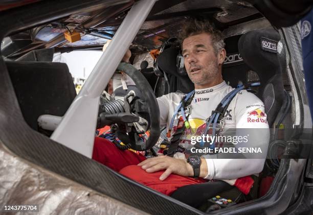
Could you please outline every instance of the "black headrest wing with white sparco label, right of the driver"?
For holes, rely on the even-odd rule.
[[[279,54],[283,51],[275,30],[257,30],[243,34],[238,41],[240,56],[257,72],[261,84],[281,73]]]

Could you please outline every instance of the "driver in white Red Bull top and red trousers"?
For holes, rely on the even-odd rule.
[[[223,157],[218,157],[219,154],[204,155],[200,157],[199,174],[196,178],[193,178],[193,166],[186,161],[194,147],[191,144],[192,136],[204,134],[207,118],[233,88],[228,86],[221,76],[221,66],[226,56],[221,33],[214,29],[210,22],[195,19],[187,22],[182,32],[184,64],[189,78],[195,85],[191,111],[186,112],[190,128],[185,129],[180,142],[180,149],[183,151],[176,152],[174,157],[161,155],[146,159],[129,151],[119,151],[113,144],[96,139],[93,158],[166,195],[171,195],[179,187],[211,179],[225,180],[247,194],[253,184],[253,180],[248,176],[262,171],[264,158],[220,159]],[[158,98],[161,125],[167,125],[171,135],[175,133],[179,116],[172,124],[173,128],[170,128],[171,118],[184,96],[182,93],[170,93]],[[220,127],[226,133],[229,129],[258,128],[254,129],[252,134],[253,141],[243,142],[241,147],[249,147],[247,144],[253,143],[266,154],[269,126],[264,105],[254,94],[246,90],[237,93],[229,104]]]

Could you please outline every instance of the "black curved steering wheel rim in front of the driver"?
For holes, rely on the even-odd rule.
[[[136,139],[139,139],[138,134],[133,133],[133,135],[137,136],[129,136],[129,139],[132,140],[131,148],[137,151],[145,151],[151,149],[158,141],[160,137],[160,109],[153,93],[153,90],[146,80],[146,78],[141,74],[141,72],[135,68],[133,65],[128,63],[120,63],[118,70],[124,71],[136,84],[136,87],[141,91],[142,97],[148,109],[148,114],[150,116],[150,135],[145,142],[145,146],[142,144],[138,144]],[[132,135],[132,134],[128,134]]]

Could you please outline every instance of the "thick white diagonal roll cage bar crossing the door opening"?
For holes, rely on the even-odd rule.
[[[89,158],[92,157],[101,92],[113,76],[154,3],[155,0],[145,0],[132,6],[106,52],[102,54],[61,123],[51,135],[51,139]]]

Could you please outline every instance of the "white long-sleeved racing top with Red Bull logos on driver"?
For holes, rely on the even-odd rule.
[[[194,140],[195,136],[204,134],[206,120],[211,116],[212,111],[215,110],[225,95],[232,90],[233,88],[225,82],[214,87],[195,90],[194,98],[189,105],[191,107],[191,113],[188,118],[190,129],[185,129],[180,142],[180,147],[185,149],[185,155],[192,154],[194,145],[191,144],[191,140]],[[170,93],[157,99],[160,107],[161,126],[166,125],[167,130],[171,129],[171,135],[176,130],[175,127],[177,126],[180,113],[178,112],[177,114],[178,117],[175,119],[173,128],[169,128],[170,122],[176,107],[184,96],[185,94],[183,93]],[[258,159],[254,159],[253,156],[236,159],[235,156],[232,157],[230,154],[226,155],[223,153],[203,155],[208,165],[208,175],[205,179],[225,180],[231,185],[236,185],[238,183],[237,178],[260,173],[263,169],[270,138],[269,125],[267,124],[263,102],[253,93],[247,90],[241,90],[229,104],[223,116],[222,123],[218,127],[221,127],[219,135],[225,136],[243,135],[244,131],[247,131],[249,141],[241,141],[235,148],[237,150],[238,148],[259,148],[262,156]],[[234,134],[235,130],[236,132]],[[229,134],[228,131],[230,131]],[[244,135],[247,135],[247,133]],[[218,147],[218,143],[216,145]],[[243,191],[242,189],[240,190]],[[245,189],[244,192],[247,193],[247,190],[250,190],[250,187]]]

